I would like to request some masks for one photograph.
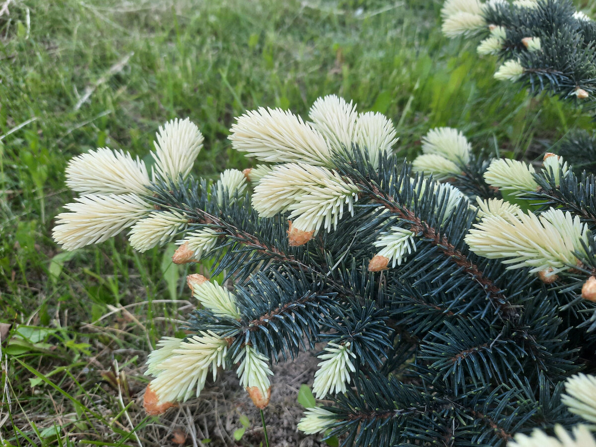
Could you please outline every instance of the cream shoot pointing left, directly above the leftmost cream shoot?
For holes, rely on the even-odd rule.
[[[145,163],[122,150],[98,148],[70,160],[66,185],[82,194],[147,194],[151,184]]]

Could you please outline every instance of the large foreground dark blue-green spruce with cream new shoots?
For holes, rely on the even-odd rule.
[[[486,11],[558,7],[514,3],[444,11],[491,32]],[[229,139],[254,167],[216,182],[191,172],[203,136],[188,119],[159,129],[151,169],[107,148],[67,167],[80,197],[57,216],[64,249],[128,229],[139,252],[176,241],[173,262],[215,259],[211,276],[233,285],[188,276],[197,309],[184,338],[164,336],[148,356],[149,414],[222,369],[265,408],[272,364],[316,350],[324,405],[306,410],[306,434],[596,446],[596,378],[581,372],[596,367],[593,175],[551,153],[539,166],[491,160],[451,128],[430,129],[405,162],[387,117],[334,95],[305,119],[247,111]]]

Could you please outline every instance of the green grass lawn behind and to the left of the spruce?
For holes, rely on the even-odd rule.
[[[434,126],[462,129],[478,150],[533,159],[569,129],[593,124],[568,104],[493,80],[495,60],[479,61],[473,43],[441,35],[438,1],[7,4],[10,13],[0,15],[6,446],[157,446],[172,432],[145,417],[139,395],[147,353],[179,331],[190,309],[187,271],[170,264],[172,247],[139,254],[123,236],[61,252],[51,228],[72,198],[64,187],[70,157],[104,146],[146,157],[160,124],[190,116],[205,135],[195,173],[213,178],[250,164],[226,140],[235,116],[259,106],[305,114],[331,93],[391,117],[409,157]]]

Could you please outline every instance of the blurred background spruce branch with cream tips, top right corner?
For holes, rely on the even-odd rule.
[[[443,32],[483,36],[479,54],[505,60],[496,79],[596,107],[596,23],[575,11],[570,0],[489,1],[476,9],[474,20],[458,20],[464,13],[454,4],[448,0],[443,6]]]

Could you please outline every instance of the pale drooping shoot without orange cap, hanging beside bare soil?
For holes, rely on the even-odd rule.
[[[328,393],[346,392],[346,386],[350,383],[350,372],[356,371],[350,357],[356,358],[350,342],[345,344],[330,342],[325,346],[324,352],[318,356],[322,362],[318,364],[319,369],[315,373],[315,381],[312,384],[312,390],[317,399],[324,398]]]

